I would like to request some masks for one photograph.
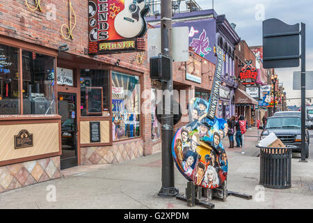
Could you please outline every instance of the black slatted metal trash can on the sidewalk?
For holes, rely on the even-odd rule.
[[[272,148],[257,146],[260,149],[259,184],[273,189],[291,187],[291,151],[296,146]]]

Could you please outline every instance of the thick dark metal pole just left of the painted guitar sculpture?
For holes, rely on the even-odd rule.
[[[161,1],[161,52],[172,58],[172,1]],[[164,70],[164,69],[162,69]],[[170,114],[162,113],[162,187],[159,196],[175,196],[178,189],[174,183],[174,162],[172,160],[173,105],[172,105],[172,59],[170,61],[170,80],[162,82],[163,111],[170,109]],[[166,100],[170,93],[170,100]]]

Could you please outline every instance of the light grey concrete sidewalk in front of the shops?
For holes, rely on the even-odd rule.
[[[248,130],[247,136],[255,130]],[[249,138],[249,139],[248,139]],[[257,138],[245,137],[246,154],[241,148],[226,149],[229,160],[228,190],[251,194],[252,200],[228,197],[226,202],[213,200],[215,208],[312,208],[313,160],[292,160],[292,187],[288,190],[265,189],[259,182]],[[255,141],[252,141],[255,140]],[[252,146],[253,144],[253,146]],[[249,145],[249,147],[248,147]],[[228,146],[225,141],[225,148]],[[47,201],[56,188],[56,201]],[[185,178],[175,167],[175,186],[184,194]],[[63,171],[63,177],[0,194],[0,208],[187,208],[175,198],[157,196],[161,188],[161,153],[118,164],[80,166]],[[262,189],[262,187],[261,187]],[[264,201],[262,201],[264,197]],[[193,208],[201,208],[195,206]]]

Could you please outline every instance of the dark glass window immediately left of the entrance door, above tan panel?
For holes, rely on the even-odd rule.
[[[55,58],[22,51],[24,114],[56,114]]]

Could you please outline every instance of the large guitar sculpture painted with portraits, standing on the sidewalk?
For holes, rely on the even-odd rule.
[[[177,130],[172,141],[172,156],[179,171],[195,185],[211,189],[223,184],[228,169],[222,143],[228,125],[215,116],[223,68],[223,51],[218,46],[216,54],[218,61],[209,102],[201,98],[189,102],[191,121]]]

